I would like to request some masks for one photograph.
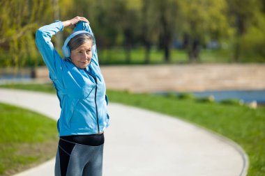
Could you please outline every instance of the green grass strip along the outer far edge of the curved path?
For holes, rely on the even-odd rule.
[[[37,88],[39,86],[39,88]],[[1,87],[1,86],[0,86]],[[43,85],[4,86],[27,90],[45,90]],[[118,102],[137,106],[159,113],[172,115],[232,139],[248,154],[250,166],[249,176],[265,175],[265,106],[250,109],[236,104],[219,104],[215,102],[199,102],[196,99],[179,99],[150,94],[133,94],[123,91],[107,90],[110,102]],[[111,118],[111,115],[110,115]]]

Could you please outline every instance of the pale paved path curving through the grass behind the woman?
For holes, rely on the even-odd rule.
[[[0,89],[0,102],[50,118],[59,117],[55,95]],[[109,104],[111,126],[105,131],[106,176],[239,176],[248,159],[232,141],[167,115]],[[53,175],[54,159],[16,176]]]

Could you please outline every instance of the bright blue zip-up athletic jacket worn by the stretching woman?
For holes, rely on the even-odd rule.
[[[81,30],[93,35],[86,22],[79,22],[75,26],[74,31]],[[36,45],[59,98],[59,136],[98,134],[109,126],[109,115],[106,86],[98,64],[96,45],[92,48],[91,63],[86,69],[80,69],[68,59],[61,58],[54,49],[51,38],[58,31],[63,31],[61,21],[41,27],[36,32]]]

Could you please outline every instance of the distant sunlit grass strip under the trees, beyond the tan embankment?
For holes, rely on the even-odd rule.
[[[45,65],[40,54],[36,58],[20,58],[17,63],[12,59],[13,56],[5,51],[0,51],[0,67],[10,67],[16,65],[17,67],[36,67]],[[126,61],[126,53],[123,47],[113,47],[112,49],[98,48],[98,58],[101,65],[126,65],[126,64],[145,64],[145,49],[144,47],[136,47],[130,50],[130,63]],[[62,52],[59,50],[61,56]],[[239,63],[264,63],[265,59],[257,54],[241,54]],[[199,53],[198,63],[232,63],[233,53],[229,49],[202,49]],[[164,52],[162,50],[152,48],[150,51],[149,64],[163,64]],[[182,64],[189,63],[188,51],[185,49],[171,49],[169,63]]]

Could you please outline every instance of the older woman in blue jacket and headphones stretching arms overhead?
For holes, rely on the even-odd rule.
[[[62,59],[51,38],[68,26],[75,29],[63,45]],[[109,115],[105,81],[89,21],[75,17],[43,26],[36,32],[36,45],[61,106],[55,175],[102,175],[103,131],[109,126]]]

